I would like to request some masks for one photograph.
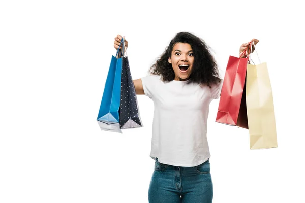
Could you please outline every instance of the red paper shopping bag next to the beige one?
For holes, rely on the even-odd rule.
[[[229,57],[216,122],[248,129],[245,91],[247,63],[248,57]]]

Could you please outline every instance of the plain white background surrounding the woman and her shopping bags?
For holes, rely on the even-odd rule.
[[[153,101],[138,96],[144,127],[123,134],[96,118],[114,37],[138,79],[179,31],[205,40],[222,76],[252,38],[268,65],[279,147],[250,150],[213,101],[214,202],[305,202],[305,16],[301,1],[271,2],[1,1],[0,202],[148,202]]]

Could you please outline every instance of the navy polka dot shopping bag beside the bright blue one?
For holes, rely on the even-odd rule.
[[[137,95],[130,73],[128,56],[125,51],[121,72],[121,97],[119,109],[119,124],[121,129],[142,127],[139,114]]]

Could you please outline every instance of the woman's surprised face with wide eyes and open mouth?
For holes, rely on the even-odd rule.
[[[172,64],[175,72],[174,80],[188,80],[194,63],[194,53],[191,45],[181,42],[176,43],[168,62]]]

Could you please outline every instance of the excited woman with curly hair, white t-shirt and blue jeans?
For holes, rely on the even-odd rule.
[[[115,38],[115,49],[121,38]],[[240,57],[245,57],[245,49],[249,53],[249,44],[241,45]],[[133,81],[136,93],[153,99],[155,106],[149,202],[212,202],[206,132],[209,104],[220,97],[223,81],[216,61],[202,39],[180,32],[150,73]]]

